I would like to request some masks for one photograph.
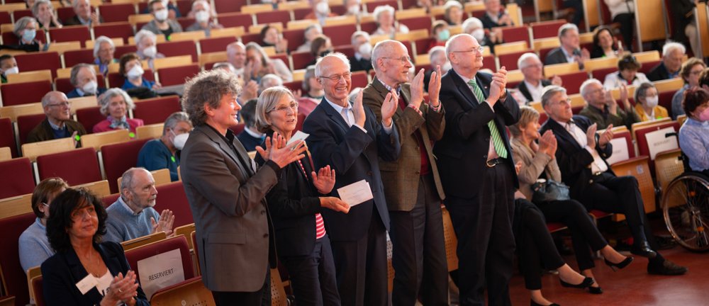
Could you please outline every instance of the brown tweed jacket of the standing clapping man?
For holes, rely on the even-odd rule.
[[[364,88],[362,101],[374,112],[377,122],[381,122],[381,103],[384,103],[386,94],[389,94],[389,91],[376,77]],[[409,84],[401,85],[401,95],[407,103],[411,101],[411,86]],[[425,101],[421,103],[419,110],[423,113],[423,117],[410,107],[403,110],[396,109],[392,119],[399,132],[399,137],[401,137],[401,157],[394,162],[379,159],[381,180],[384,183],[384,196],[389,210],[411,211],[416,203],[421,175],[421,151],[416,139],[416,131],[420,132],[423,145],[428,152],[430,172],[438,197],[441,200],[445,198],[440,176],[438,176],[438,166],[433,155],[433,142],[440,140],[443,137],[443,130],[445,130],[445,112],[443,109],[440,110],[440,113],[433,111]]]

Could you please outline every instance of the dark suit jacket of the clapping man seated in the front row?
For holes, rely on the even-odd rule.
[[[591,120],[588,120],[588,118],[582,115],[574,115],[573,120],[576,126],[584,130],[584,132],[593,124]],[[552,119],[547,120],[547,122],[542,125],[540,133],[544,134],[547,130],[552,130],[554,136],[557,137],[558,145],[556,157],[559,170],[562,171],[562,181],[571,187],[571,198],[579,198],[579,195],[583,193],[586,187],[591,185],[589,181],[593,173],[591,173],[591,167],[588,165],[593,162],[593,156],[588,150],[581,147],[574,136],[571,136],[571,134],[566,131],[566,128],[559,125],[557,121]],[[613,145],[609,142],[608,145],[605,146],[605,149],[601,149],[598,145],[598,135],[596,135],[596,151],[601,155],[603,162],[605,162],[605,159],[610,157],[610,154],[613,154]],[[605,164],[608,165],[607,162]],[[610,165],[608,165],[608,171],[613,173],[610,169]]]

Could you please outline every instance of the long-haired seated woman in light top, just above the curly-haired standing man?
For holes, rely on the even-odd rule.
[[[246,44],[246,64],[244,79],[260,83],[266,74],[276,74],[283,81],[293,81],[293,73],[281,59],[271,59],[256,42]]]

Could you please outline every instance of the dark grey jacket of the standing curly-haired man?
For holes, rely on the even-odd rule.
[[[182,185],[206,288],[254,292],[264,285],[269,262],[276,262],[265,198],[278,181],[278,166],[269,161],[255,171],[241,143],[234,138],[237,155],[226,141],[210,126],[197,126],[182,149]]]

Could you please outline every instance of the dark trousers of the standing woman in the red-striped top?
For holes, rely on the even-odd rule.
[[[333,250],[327,235],[316,240],[312,254],[281,256],[281,262],[290,276],[297,305],[340,305]]]

